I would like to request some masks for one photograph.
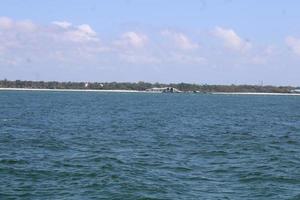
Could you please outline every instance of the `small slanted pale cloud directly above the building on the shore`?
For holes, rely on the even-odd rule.
[[[194,50],[199,47],[198,44],[193,43],[185,34],[179,32],[173,32],[164,30],[161,32],[163,36],[166,36],[175,43],[175,45],[182,50]]]

